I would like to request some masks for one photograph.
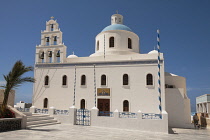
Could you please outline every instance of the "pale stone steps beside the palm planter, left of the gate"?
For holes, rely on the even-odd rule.
[[[27,129],[55,124],[60,124],[60,122],[48,114],[27,115]]]

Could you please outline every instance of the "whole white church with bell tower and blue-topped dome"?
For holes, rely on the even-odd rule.
[[[185,78],[165,72],[163,53],[140,53],[139,36],[123,20],[120,14],[111,16],[111,25],[96,35],[95,52],[88,57],[67,57],[59,24],[53,18],[47,21],[36,46],[33,106],[165,112],[168,126],[188,127],[191,110]]]

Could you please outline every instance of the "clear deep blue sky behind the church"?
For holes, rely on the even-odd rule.
[[[35,46],[41,30],[54,16],[63,32],[63,42],[78,56],[94,52],[95,36],[110,25],[119,11],[124,24],[140,37],[141,53],[156,46],[160,29],[165,70],[187,79],[192,111],[195,97],[210,93],[210,1],[209,0],[1,0],[0,84],[17,60],[34,65]],[[27,74],[33,76],[33,72]],[[16,91],[16,102],[31,102],[33,84]]]

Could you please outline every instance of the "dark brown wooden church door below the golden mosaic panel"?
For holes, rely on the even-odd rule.
[[[99,116],[109,116],[110,99],[98,99]]]

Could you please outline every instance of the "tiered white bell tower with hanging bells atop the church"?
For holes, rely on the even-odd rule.
[[[41,31],[41,44],[36,46],[36,63],[64,63],[66,46],[62,43],[62,32],[54,17],[46,22]]]

